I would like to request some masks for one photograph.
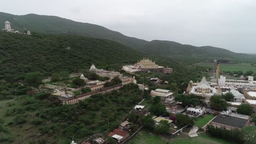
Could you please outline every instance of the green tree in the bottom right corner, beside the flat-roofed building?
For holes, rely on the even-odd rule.
[[[242,129],[242,137],[245,144],[252,144],[256,142],[256,127],[249,126]]]

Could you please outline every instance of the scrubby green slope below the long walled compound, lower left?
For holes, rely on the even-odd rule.
[[[47,93],[1,101],[0,143],[78,142],[117,127],[142,97],[137,85],[126,85],[73,105],[60,105]]]

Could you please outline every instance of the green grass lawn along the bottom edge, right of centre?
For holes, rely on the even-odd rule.
[[[148,131],[140,131],[130,142],[129,144],[166,144],[166,143],[173,143],[173,144],[231,144],[226,140],[216,139],[211,137],[205,133],[199,134],[197,137],[189,137],[187,135],[179,135],[174,139],[166,139],[164,137],[149,134]]]

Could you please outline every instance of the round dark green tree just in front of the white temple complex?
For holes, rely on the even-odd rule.
[[[217,110],[217,111],[223,111],[228,106],[228,103],[225,99],[218,95],[213,95],[210,98],[210,107],[211,109]]]

